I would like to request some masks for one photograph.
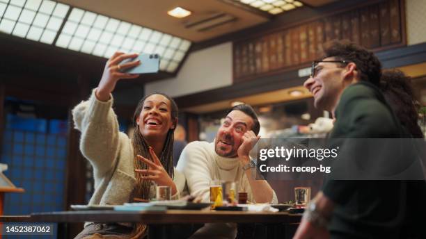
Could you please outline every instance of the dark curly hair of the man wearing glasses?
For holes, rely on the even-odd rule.
[[[371,51],[364,49],[352,42],[331,41],[324,44],[322,59],[334,57],[336,60],[346,60],[355,63],[360,73],[361,81],[369,81],[379,85],[381,77],[381,63]]]

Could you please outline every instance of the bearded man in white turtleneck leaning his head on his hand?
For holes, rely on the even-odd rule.
[[[248,153],[258,142],[258,116],[251,106],[231,108],[216,134],[214,142],[190,142],[179,158],[177,169],[183,172],[191,195],[210,201],[212,180],[237,181],[248,200],[276,204],[274,190],[265,180],[256,180]],[[235,238],[235,224],[205,224],[191,238]]]

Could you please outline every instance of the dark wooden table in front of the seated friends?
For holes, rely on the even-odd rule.
[[[298,224],[301,214],[286,212],[240,212],[240,211],[189,211],[168,210],[158,211],[64,211],[52,213],[34,213],[31,216],[22,216],[25,222],[141,222],[150,226],[149,238],[170,238],[166,233],[167,226],[175,224],[204,224],[214,222],[235,222],[237,224],[265,224],[269,231],[281,229],[283,224]],[[17,222],[19,216],[0,217],[0,222]],[[272,226],[271,226],[272,225]],[[274,232],[281,236],[281,233]],[[271,235],[272,235],[271,234]],[[268,238],[275,236],[267,236]]]

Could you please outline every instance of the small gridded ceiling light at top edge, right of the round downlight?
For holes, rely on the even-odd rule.
[[[253,8],[258,8],[262,11],[276,15],[294,8],[300,8],[303,3],[295,0],[235,0],[244,3]]]

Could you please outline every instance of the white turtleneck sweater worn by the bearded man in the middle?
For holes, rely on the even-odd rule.
[[[214,142],[190,142],[180,154],[177,170],[183,172],[191,195],[210,201],[212,180],[238,181],[238,191],[247,192],[248,201],[255,202],[242,163],[238,158],[225,158],[216,154]],[[271,204],[278,203],[274,192]],[[235,238],[235,224],[205,224],[191,238]]]

